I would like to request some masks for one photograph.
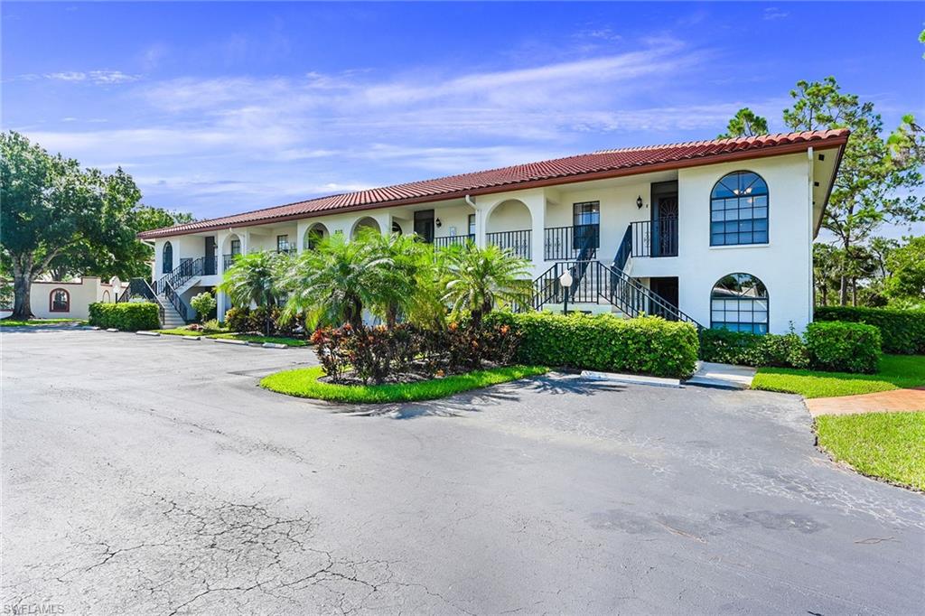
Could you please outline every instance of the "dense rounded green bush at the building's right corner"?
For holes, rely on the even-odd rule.
[[[877,372],[881,335],[875,326],[841,321],[820,321],[807,326],[809,362],[818,370]]]

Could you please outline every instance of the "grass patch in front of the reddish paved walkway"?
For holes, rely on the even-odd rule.
[[[925,411],[821,415],[819,445],[858,473],[925,491]]]

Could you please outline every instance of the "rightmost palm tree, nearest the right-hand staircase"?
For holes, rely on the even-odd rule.
[[[530,262],[495,245],[451,247],[444,269],[443,301],[476,327],[499,302],[527,302],[533,293]]]

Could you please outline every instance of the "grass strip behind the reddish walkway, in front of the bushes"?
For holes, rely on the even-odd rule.
[[[759,368],[752,389],[828,398],[925,385],[925,355],[883,355],[876,375]]]

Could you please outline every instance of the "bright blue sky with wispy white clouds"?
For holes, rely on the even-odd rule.
[[[925,5],[19,4],[4,129],[221,216],[601,148],[784,129],[835,75],[925,116]]]

